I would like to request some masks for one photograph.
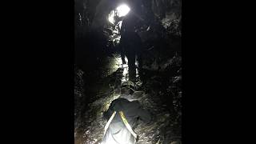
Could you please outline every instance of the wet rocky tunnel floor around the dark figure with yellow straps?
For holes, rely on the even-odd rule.
[[[162,72],[150,73],[150,70],[145,70],[143,74],[146,74],[146,81],[137,83],[134,98],[137,98],[153,116],[153,122],[149,125],[138,122],[138,126],[134,129],[139,136],[138,144],[181,143],[182,113],[180,102],[182,91],[177,85],[178,82],[181,82],[181,74],[177,73],[179,70],[176,64],[177,59],[177,57],[172,58],[172,61],[165,67],[169,71],[162,70]],[[98,78],[98,82],[92,85],[94,90],[88,96],[90,103],[82,114],[77,114],[75,118],[75,144],[98,144],[101,142],[106,125],[102,113],[108,109],[114,98],[118,98],[121,83],[128,79],[128,68],[121,65],[121,62],[118,54],[110,57],[105,67],[102,68],[106,74],[103,74],[101,78]],[[172,66],[174,62],[176,62],[176,67]],[[166,73],[168,75],[174,69],[174,74],[169,74],[167,78]],[[171,99],[167,97],[171,97]],[[81,106],[83,105],[81,104]]]

